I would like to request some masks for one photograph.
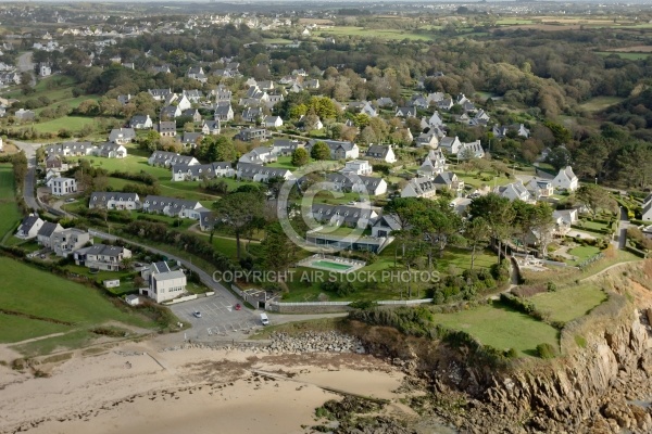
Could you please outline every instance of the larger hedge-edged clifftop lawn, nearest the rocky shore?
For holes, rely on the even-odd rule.
[[[515,348],[521,356],[536,356],[537,345],[542,343],[559,348],[556,329],[499,303],[455,314],[437,314],[435,322],[471,333],[484,345]]]

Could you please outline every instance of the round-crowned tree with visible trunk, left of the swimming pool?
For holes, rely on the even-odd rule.
[[[260,226],[264,217],[265,196],[262,191],[236,191],[213,205],[215,227],[224,227],[236,237],[236,252],[240,254],[240,238]]]

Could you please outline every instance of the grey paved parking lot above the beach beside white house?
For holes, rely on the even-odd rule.
[[[244,306],[236,310],[236,304],[241,302],[234,298],[216,294],[172,305],[170,308],[179,319],[192,324],[192,329],[185,333],[186,339],[204,341],[238,337],[261,328],[260,314]],[[195,311],[199,311],[201,318],[196,317]]]

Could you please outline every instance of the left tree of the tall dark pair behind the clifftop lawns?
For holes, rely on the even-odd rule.
[[[491,239],[498,243],[498,264],[500,264],[501,245],[512,233],[512,224],[515,217],[512,203],[506,197],[489,193],[471,201],[468,213],[472,220],[482,217],[489,225]]]

